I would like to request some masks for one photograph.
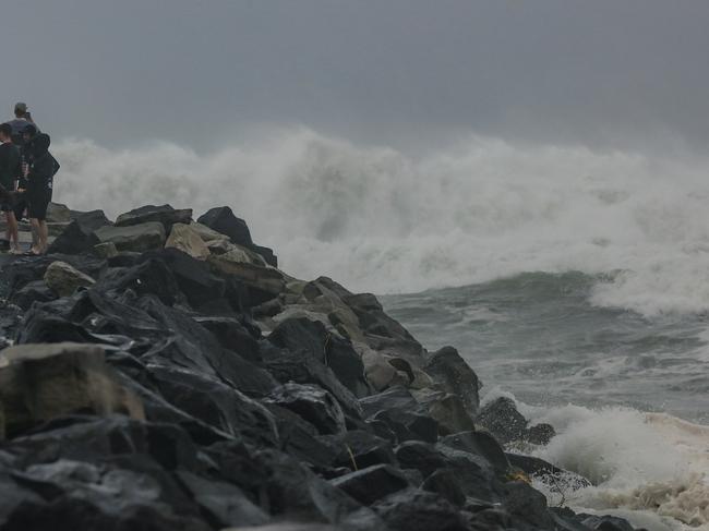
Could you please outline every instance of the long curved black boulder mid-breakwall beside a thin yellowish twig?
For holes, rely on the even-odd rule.
[[[308,350],[321,359],[356,397],[370,395],[364,365],[351,343],[331,334],[319,322],[292,318],[283,322],[268,337],[271,342],[292,351]]]

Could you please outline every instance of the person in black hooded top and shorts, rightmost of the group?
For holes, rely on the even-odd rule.
[[[29,144],[32,164],[27,173],[27,215],[33,230],[37,233],[37,242],[32,246],[31,254],[44,254],[47,251],[47,207],[51,197],[51,184],[59,165],[49,153],[51,140],[46,133],[40,133]]]

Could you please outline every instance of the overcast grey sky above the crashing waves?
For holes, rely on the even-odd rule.
[[[106,145],[254,123],[709,141],[707,0],[22,0],[1,21],[8,114]]]

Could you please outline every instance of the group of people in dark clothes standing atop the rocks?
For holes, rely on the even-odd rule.
[[[11,253],[23,253],[17,224],[32,225],[33,244],[27,254],[47,251],[47,208],[59,162],[49,153],[51,140],[32,119],[27,105],[15,104],[15,118],[0,124],[0,210],[7,221]]]

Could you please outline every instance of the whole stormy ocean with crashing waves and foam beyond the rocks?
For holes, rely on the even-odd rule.
[[[529,451],[592,481],[539,484],[550,504],[709,529],[707,160],[476,135],[404,153],[302,128],[53,153],[56,201],[229,205],[289,274],[374,292],[430,350],[458,348],[483,401],[554,425]]]

